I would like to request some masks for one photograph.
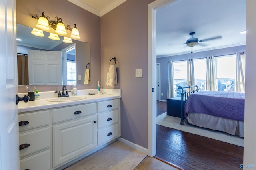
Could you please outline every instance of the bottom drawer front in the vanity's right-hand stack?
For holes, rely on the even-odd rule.
[[[98,145],[119,137],[119,124],[98,131]]]

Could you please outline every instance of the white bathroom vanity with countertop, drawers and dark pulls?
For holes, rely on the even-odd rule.
[[[120,137],[120,89],[78,90],[82,99],[18,104],[20,170],[63,169]],[[97,92],[96,92],[97,93]],[[20,96],[24,93],[19,94]]]

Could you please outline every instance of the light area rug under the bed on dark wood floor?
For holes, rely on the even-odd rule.
[[[168,116],[165,113],[162,113],[158,117],[156,117],[157,120],[157,125],[162,125],[164,127],[169,127],[169,128],[174,128],[177,130],[181,130],[184,132],[189,132],[192,134],[197,134],[200,136],[205,136],[207,138],[212,138],[215,140],[220,140],[222,142],[230,143],[230,144],[235,144],[237,146],[242,146],[244,147],[244,139],[240,138],[238,136],[233,136],[225,132],[220,132],[216,130],[211,130],[207,128],[202,128],[202,127],[197,127],[191,124],[186,124],[180,125],[180,118],[178,117],[173,117],[173,116]]]

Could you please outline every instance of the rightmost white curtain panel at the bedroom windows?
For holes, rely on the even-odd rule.
[[[245,53],[236,53],[236,91],[244,92]]]

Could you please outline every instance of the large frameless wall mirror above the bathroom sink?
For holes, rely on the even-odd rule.
[[[64,38],[62,36],[59,36],[60,40],[51,40],[48,38],[48,32],[44,32],[44,37],[38,37],[31,34],[31,31],[32,28],[17,24],[18,85],[90,84],[90,81],[87,80],[90,77],[88,77],[88,74],[86,76],[86,72],[90,75],[90,43],[78,40],[72,40],[72,43],[64,43],[62,42]],[[56,75],[58,71],[53,69],[54,71],[48,73],[48,75],[52,75],[50,76],[50,82],[43,81],[42,78],[36,79],[37,75],[44,74],[44,71],[40,70],[37,71],[37,75],[31,75],[33,68],[38,67],[32,67],[31,61],[28,61],[28,59],[31,59],[32,52],[42,54],[46,51],[48,51],[47,54],[51,51],[59,51],[61,53],[61,58],[58,58],[58,62],[50,63],[51,65],[58,64],[56,67],[60,69],[60,75]],[[31,56],[28,55],[29,53]],[[46,69],[42,68],[42,70]],[[49,70],[48,68],[46,71]],[[55,81],[55,79],[51,81],[54,74],[59,78],[58,81]],[[40,77],[45,76],[42,75]]]

